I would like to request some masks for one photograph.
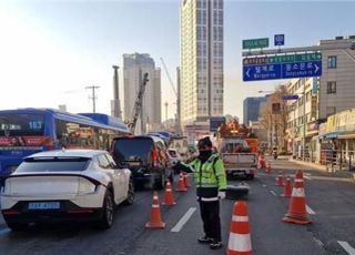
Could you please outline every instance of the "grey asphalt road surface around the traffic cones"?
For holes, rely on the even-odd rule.
[[[355,183],[347,175],[302,167],[286,160],[272,161],[273,172],[260,171],[247,196],[253,254],[256,255],[321,255],[355,254]],[[288,198],[280,197],[283,187],[275,186],[278,170],[305,174],[306,203],[312,213],[311,225],[282,222],[288,208]],[[240,181],[231,181],[237,184]],[[176,185],[176,183],[175,183]],[[160,192],[160,201],[164,192]],[[120,206],[114,226],[100,231],[85,225],[32,226],[27,232],[13,233],[0,220],[0,254],[132,254],[132,255],[209,255],[225,254],[233,204],[221,203],[223,248],[211,251],[196,238],[202,235],[202,223],[194,188],[174,192],[176,205],[161,205],[166,223],[164,230],[146,230],[152,204],[152,191],[136,192],[131,206]],[[191,212],[191,217],[176,230],[178,222]],[[339,243],[346,242],[346,243]],[[346,247],[346,248],[344,248]],[[348,245],[348,246],[347,246]],[[352,251],[353,248],[353,251]],[[352,253],[353,252],[353,253]]]

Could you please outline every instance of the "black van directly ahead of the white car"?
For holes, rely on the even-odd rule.
[[[118,165],[132,171],[135,185],[162,190],[168,178],[173,181],[172,170],[168,167],[165,143],[158,136],[115,137],[111,152]]]

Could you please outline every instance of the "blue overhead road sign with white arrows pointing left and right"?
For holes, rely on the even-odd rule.
[[[322,61],[243,65],[243,81],[321,76]]]

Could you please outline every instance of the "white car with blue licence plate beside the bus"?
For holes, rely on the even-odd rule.
[[[1,211],[13,231],[60,221],[90,221],[109,228],[115,205],[133,200],[131,171],[119,169],[108,152],[48,151],[26,157],[7,177]]]

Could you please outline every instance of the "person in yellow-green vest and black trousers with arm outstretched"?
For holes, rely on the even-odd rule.
[[[203,222],[204,235],[199,243],[210,244],[210,248],[222,247],[220,200],[225,198],[226,177],[223,161],[212,153],[212,142],[209,136],[197,143],[199,156],[191,163],[178,162],[173,169],[183,172],[194,172],[196,195]]]

